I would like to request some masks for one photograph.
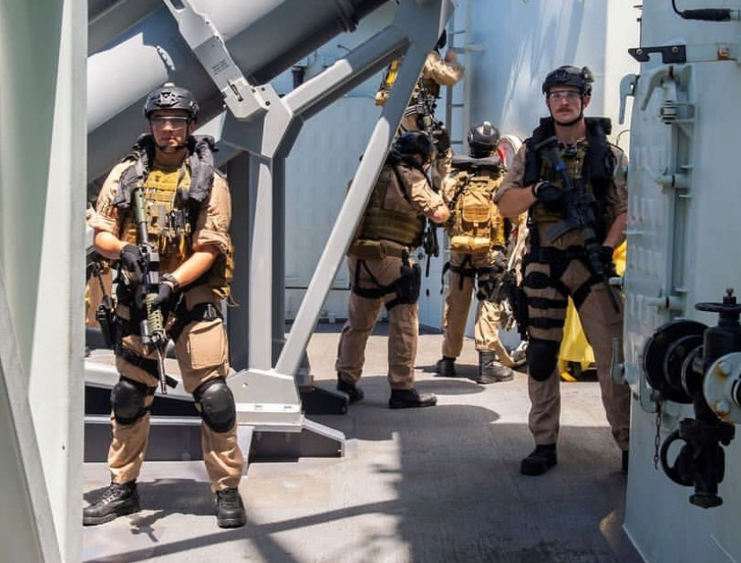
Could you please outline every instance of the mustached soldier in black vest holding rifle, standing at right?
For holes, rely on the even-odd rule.
[[[556,439],[561,409],[556,356],[564,333],[567,298],[582,320],[594,348],[602,403],[627,470],[630,390],[610,375],[611,344],[623,336],[623,302],[610,299],[605,273],[614,271],[613,249],[625,238],[627,192],[625,154],[607,143],[609,120],[584,117],[590,102],[589,69],[562,66],[547,75],[543,93],[550,117],[516,154],[495,195],[500,211],[512,217],[528,211],[530,235],[523,261],[523,286],[528,302],[530,431],[535,450],[522,460],[521,473],[539,475],[556,465]],[[556,136],[565,170],[593,198],[590,209],[594,239],[584,230],[549,235],[565,217],[562,178],[536,146]],[[600,247],[601,245],[601,247]],[[599,251],[603,275],[595,272],[587,247]],[[617,310],[616,310],[617,309]]]

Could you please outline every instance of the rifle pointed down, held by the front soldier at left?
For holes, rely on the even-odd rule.
[[[165,373],[165,349],[168,345],[168,335],[165,333],[162,307],[153,305],[153,301],[157,299],[159,294],[159,252],[151,247],[149,241],[147,213],[144,210],[144,193],[141,186],[134,189],[132,203],[134,205],[138,246],[142,254],[140,262],[143,273],[142,292],[147,313],[141,324],[142,343],[150,351],[157,354],[159,389],[163,394],[167,394],[168,385],[174,386],[175,380]]]

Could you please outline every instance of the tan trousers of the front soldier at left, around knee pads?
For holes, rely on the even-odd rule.
[[[122,342],[125,349],[143,355],[142,339],[126,336]],[[228,374],[228,342],[220,319],[197,321],[185,325],[175,343],[175,356],[183,378],[185,391],[193,393],[204,381]],[[151,353],[146,358],[155,358]],[[116,357],[116,368],[125,377],[154,387],[158,380],[142,368]],[[153,395],[146,397],[144,406],[149,407]],[[196,404],[196,406],[198,406]],[[111,480],[116,483],[133,481],[139,476],[144,460],[150,429],[150,412],[133,424],[120,424],[111,412],[113,441],[108,450],[108,466]],[[237,446],[237,424],[222,434],[214,432],[205,422],[201,423],[201,446],[211,486],[214,490],[237,487],[242,477],[244,458]]]

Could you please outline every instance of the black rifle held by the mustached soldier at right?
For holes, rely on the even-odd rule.
[[[564,187],[564,199],[566,204],[566,217],[558,221],[547,231],[549,242],[554,242],[556,238],[564,236],[573,230],[579,230],[584,239],[584,249],[587,252],[587,263],[593,275],[602,278],[607,288],[607,296],[615,308],[616,312],[620,311],[617,304],[615,292],[609,284],[609,274],[599,256],[600,243],[597,239],[597,233],[594,231],[596,224],[594,218],[593,205],[596,203],[594,195],[584,189],[584,178],[574,185],[571,176],[566,171],[566,165],[561,158],[561,152],[558,150],[558,140],[555,136],[548,137],[545,141],[535,145],[535,151],[547,161],[548,165],[556,171],[558,178]]]

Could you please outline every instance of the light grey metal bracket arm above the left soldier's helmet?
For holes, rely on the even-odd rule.
[[[235,64],[211,21],[199,13],[190,0],[162,0],[177,22],[177,29],[211,80],[224,96],[229,110],[237,119],[263,115],[268,104]]]

